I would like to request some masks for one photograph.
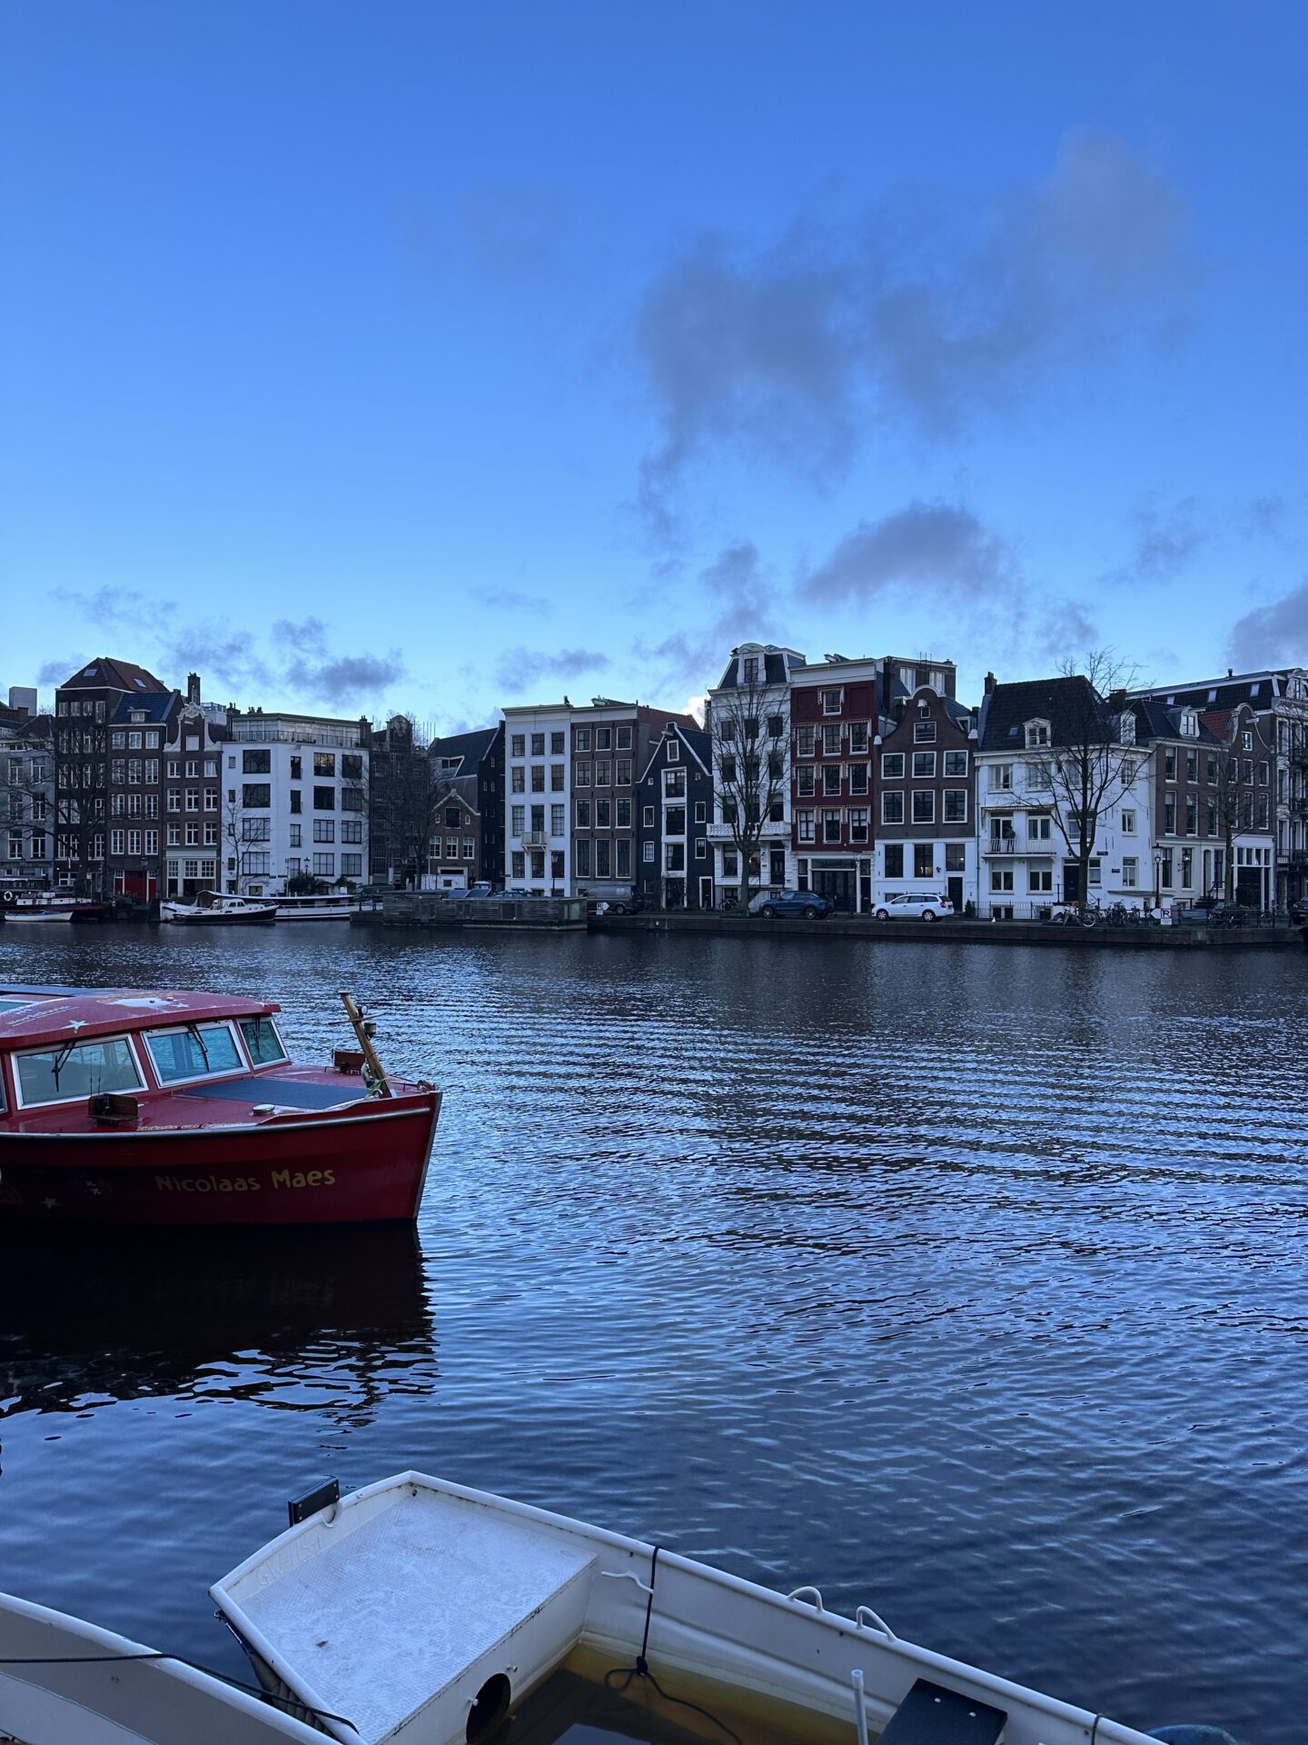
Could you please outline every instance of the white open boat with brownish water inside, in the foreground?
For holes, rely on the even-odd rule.
[[[830,1612],[816,1588],[773,1593],[422,1473],[344,1499],[328,1483],[291,1520],[211,1593],[265,1689],[331,1712],[319,1724],[337,1740],[483,1740],[570,1670],[630,1696],[640,1738],[1149,1745],[903,1642],[867,1607]],[[528,1722],[537,1736],[556,1735]]]

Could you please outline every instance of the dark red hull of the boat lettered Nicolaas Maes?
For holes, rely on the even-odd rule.
[[[0,1225],[405,1223],[439,1091],[194,1129],[0,1131]]]

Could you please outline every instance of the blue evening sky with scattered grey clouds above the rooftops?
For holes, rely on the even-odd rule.
[[[1308,7],[5,0],[0,695],[1308,661]]]

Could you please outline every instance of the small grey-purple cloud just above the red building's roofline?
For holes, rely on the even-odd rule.
[[[809,571],[802,592],[820,602],[867,604],[912,585],[919,600],[957,602],[1012,595],[1017,581],[1012,546],[971,510],[917,501],[881,520],[860,522]]]

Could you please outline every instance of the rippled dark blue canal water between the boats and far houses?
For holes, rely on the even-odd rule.
[[[0,928],[0,979],[270,995],[314,1059],[349,988],[446,1091],[415,1235],[3,1235],[0,1586],[239,1670],[208,1583],[415,1466],[1298,1745],[1306,975]]]

